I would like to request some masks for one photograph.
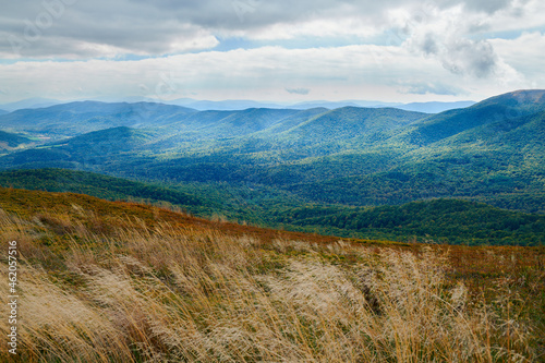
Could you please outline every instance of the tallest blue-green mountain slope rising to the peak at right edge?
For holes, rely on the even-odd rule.
[[[389,157],[375,172],[358,164],[332,179],[299,179],[288,190],[326,203],[379,205],[458,196],[544,213],[543,94],[511,93],[416,121],[375,149]]]

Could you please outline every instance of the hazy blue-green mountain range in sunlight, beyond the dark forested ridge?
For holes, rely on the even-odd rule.
[[[349,218],[338,208],[445,197],[545,211],[545,90],[434,114],[78,101],[2,114],[0,130],[0,169],[152,182],[206,196],[203,213],[257,223],[311,205],[322,206],[319,226],[344,226],[332,221]]]

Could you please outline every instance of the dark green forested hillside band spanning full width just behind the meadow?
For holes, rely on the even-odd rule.
[[[141,201],[209,219],[329,235],[465,245],[545,244],[545,216],[460,199],[347,207],[308,204],[292,195],[252,195],[251,191],[246,195],[230,190],[210,194],[198,187],[172,189],[61,169],[0,172],[0,186]]]

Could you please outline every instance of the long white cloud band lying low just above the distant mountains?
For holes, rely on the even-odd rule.
[[[455,99],[455,92],[447,89],[460,88],[459,76],[434,59],[386,46],[264,47],[141,61],[17,62],[0,65],[0,74],[10,100],[28,97],[28,93],[51,98],[125,95],[172,99],[196,95],[202,99],[263,100],[425,100],[434,94],[435,99],[450,100]],[[441,83],[432,83],[435,88],[428,87],[427,92],[422,92],[422,87],[408,88],[415,80]],[[293,87],[294,84],[305,87]],[[464,80],[463,89],[468,87],[473,90],[467,95],[476,97],[509,90],[502,89],[501,84],[479,80]],[[305,95],[303,89],[313,92]]]

